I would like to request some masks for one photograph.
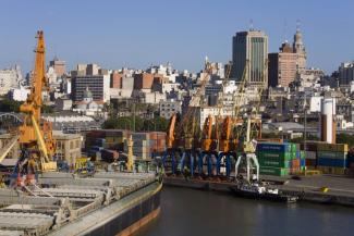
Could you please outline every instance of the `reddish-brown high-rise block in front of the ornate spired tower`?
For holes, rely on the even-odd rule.
[[[271,87],[289,87],[296,78],[297,54],[288,41],[280,47],[280,52],[269,53],[268,85]]]

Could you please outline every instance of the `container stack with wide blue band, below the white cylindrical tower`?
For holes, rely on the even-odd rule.
[[[345,174],[347,151],[347,145],[319,142],[317,145],[317,169],[324,174]]]

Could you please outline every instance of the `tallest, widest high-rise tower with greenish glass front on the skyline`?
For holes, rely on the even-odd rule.
[[[260,30],[239,32],[232,44],[232,77],[242,79],[246,62],[251,86],[268,85],[268,36]]]

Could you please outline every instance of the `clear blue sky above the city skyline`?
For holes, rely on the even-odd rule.
[[[34,65],[37,29],[47,60],[146,69],[170,62],[203,69],[204,58],[228,62],[232,36],[251,22],[269,37],[269,52],[292,41],[301,22],[307,64],[327,73],[354,60],[352,0],[1,0],[0,69]]]

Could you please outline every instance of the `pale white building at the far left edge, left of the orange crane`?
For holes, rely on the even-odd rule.
[[[23,80],[21,69],[15,65],[0,71],[0,95],[7,95],[11,88],[19,88]]]

